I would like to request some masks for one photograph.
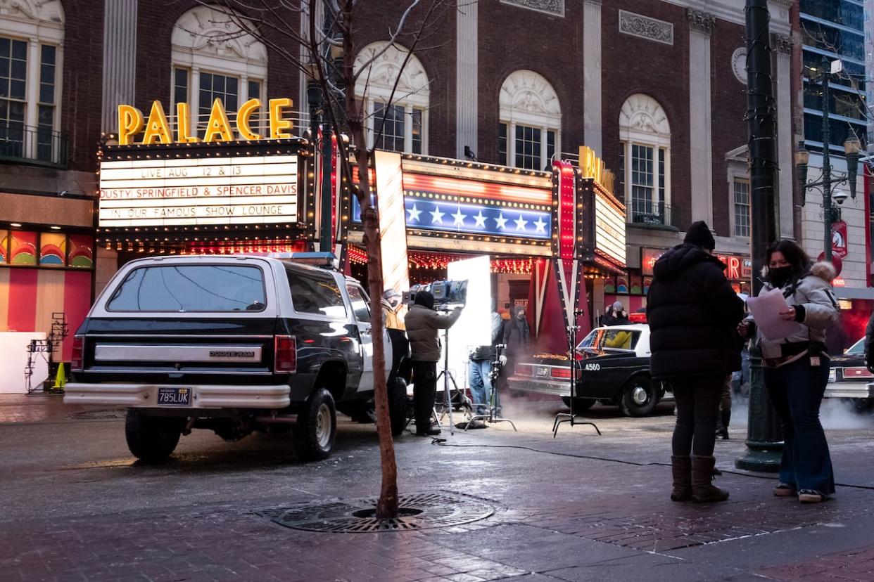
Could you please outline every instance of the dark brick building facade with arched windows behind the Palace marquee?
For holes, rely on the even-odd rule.
[[[404,4],[362,0],[354,24],[356,50],[385,43]],[[462,158],[468,147],[479,161],[531,169],[543,169],[551,159],[573,159],[580,146],[592,147],[617,174],[616,194],[628,207],[629,269],[624,284],[622,277],[596,281],[592,291],[598,298],[620,295],[629,307],[639,307],[646,286],[642,248],[673,246],[692,220],[711,224],[718,250],[740,259],[748,256],[743,4],[480,0],[460,3],[457,9],[442,7],[423,42],[427,46],[415,51],[412,73],[405,79],[412,91],[393,110],[393,134],[376,145],[450,158]],[[792,2],[769,4],[774,45],[789,47]],[[267,31],[266,44],[252,38],[206,42],[221,24],[196,0],[20,0],[15,5],[0,12],[0,42],[38,44],[46,26],[55,31],[45,40],[58,47],[53,123],[69,150],[51,163],[28,158],[26,152],[0,161],[0,232],[51,232],[59,226],[64,232],[93,234],[95,152],[101,133],[116,129],[115,110],[121,103],[148,111],[153,100],[169,108],[185,98],[197,116],[201,96],[212,100],[233,93],[234,102],[241,102],[258,92],[262,99],[292,97],[302,112],[299,127],[307,122],[304,81],[272,48],[284,43],[276,31]],[[426,8],[413,11],[410,28]],[[295,30],[305,27],[294,12],[285,18]],[[19,38],[22,23],[31,26],[32,39]],[[397,39],[402,48],[410,42],[409,36]],[[36,49],[30,54],[38,58]],[[387,61],[392,54],[387,51],[374,70],[382,66],[380,71],[391,72]],[[788,210],[793,207],[790,64],[786,52],[775,51],[775,89],[785,96],[778,111],[779,198],[781,215],[789,216],[781,222],[784,236],[794,236]],[[36,64],[31,65],[28,70],[38,74]],[[369,111],[385,114],[389,109],[379,109],[377,80],[364,97]],[[31,109],[42,104],[38,90],[31,81],[24,99]],[[34,114],[28,119],[38,121]],[[3,124],[8,131],[13,120],[0,120]],[[65,211],[67,223],[52,215],[62,192],[82,207],[79,215]],[[3,197],[12,195],[28,196],[28,202],[19,201],[19,214],[3,203]],[[7,254],[10,248],[7,244]],[[100,289],[117,269],[118,257],[114,251],[94,251],[96,265],[87,272],[93,274],[89,284]],[[10,257],[4,261],[0,312],[5,313],[14,303],[10,273],[17,275]],[[72,269],[66,257],[58,271],[46,265],[51,277],[44,277],[38,258],[36,263],[28,265],[37,267],[39,275],[29,283],[33,289],[44,278]],[[512,279],[502,281],[503,288]],[[641,283],[635,286],[635,281]],[[600,311],[602,305],[595,307]],[[0,329],[22,325],[45,328],[45,322],[36,320],[13,326],[0,315]]]

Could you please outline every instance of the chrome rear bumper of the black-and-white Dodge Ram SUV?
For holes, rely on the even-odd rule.
[[[159,406],[158,387],[180,387],[177,384],[87,384],[70,382],[64,390],[65,404],[99,404],[101,406],[133,408],[176,408]],[[284,408],[290,403],[291,387],[235,386],[227,384],[182,385],[191,388],[190,408]]]

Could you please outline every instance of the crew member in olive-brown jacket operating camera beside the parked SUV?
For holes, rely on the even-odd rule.
[[[429,291],[416,293],[413,306],[406,313],[406,336],[413,353],[413,412],[416,435],[440,435],[440,428],[431,426],[431,412],[437,393],[437,362],[440,360],[440,339],[437,331],[448,329],[461,317],[461,306],[448,314],[434,311],[434,295]]]

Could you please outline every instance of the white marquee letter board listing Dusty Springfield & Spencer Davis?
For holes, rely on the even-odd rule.
[[[101,162],[101,227],[294,223],[298,156]]]

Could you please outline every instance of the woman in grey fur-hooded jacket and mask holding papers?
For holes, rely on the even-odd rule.
[[[836,270],[830,263],[811,265],[804,250],[787,240],[768,247],[765,265],[766,283],[759,294],[780,289],[789,305],[780,317],[801,324],[798,332],[783,339],[768,340],[758,334],[768,399],[783,428],[780,483],[773,494],[819,503],[835,493],[819,408],[829,382],[826,330],[840,317],[831,287]],[[753,323],[744,321],[738,332],[752,335]]]

